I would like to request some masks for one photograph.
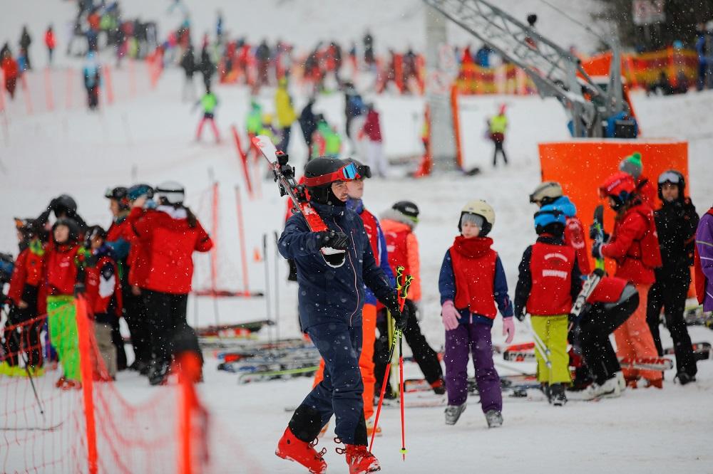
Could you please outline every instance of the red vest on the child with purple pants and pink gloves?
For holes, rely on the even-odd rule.
[[[456,308],[495,319],[497,308],[493,296],[498,253],[490,246],[489,237],[456,237],[448,251],[456,278]]]

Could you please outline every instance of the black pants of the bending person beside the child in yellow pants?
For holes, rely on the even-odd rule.
[[[602,303],[591,306],[581,315],[579,322],[579,342],[584,362],[594,381],[600,385],[621,370],[609,335],[624,324],[639,306],[639,294],[634,293],[613,307],[607,306]]]

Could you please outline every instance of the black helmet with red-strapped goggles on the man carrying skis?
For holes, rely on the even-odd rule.
[[[342,173],[339,171],[342,170]],[[356,164],[345,163],[341,159],[318,157],[304,167],[304,185],[307,186],[312,201],[319,204],[344,205],[332,192],[335,181],[351,181],[358,177]]]

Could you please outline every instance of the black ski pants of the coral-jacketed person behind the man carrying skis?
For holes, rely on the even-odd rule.
[[[419,364],[419,369],[424,373],[424,377],[429,384],[433,384],[438,379],[443,379],[443,368],[441,362],[438,361],[438,354],[426,341],[426,337],[421,334],[421,326],[416,318],[416,305],[411,300],[406,300],[406,305],[409,305],[411,317],[409,324],[404,330],[404,339],[406,344],[411,347],[411,352],[414,353],[414,360]],[[386,365],[389,364],[389,331],[386,328],[386,310],[379,311],[379,316],[376,318],[376,329],[379,330],[379,337],[374,341],[374,377],[376,378],[375,386],[381,387],[381,382],[384,380],[384,372]]]

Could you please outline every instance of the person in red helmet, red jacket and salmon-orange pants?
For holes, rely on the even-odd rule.
[[[614,276],[630,281],[639,292],[634,314],[614,332],[619,357],[658,357],[654,339],[646,322],[649,288],[655,281],[654,269],[661,266],[661,253],[654,213],[639,194],[634,179],[625,172],[612,175],[600,186],[600,196],[609,199],[617,213],[614,232],[607,243],[595,243],[595,258],[612,258],[617,263]],[[636,388],[640,377],[646,386],[662,388],[661,372],[624,369],[627,384]]]

